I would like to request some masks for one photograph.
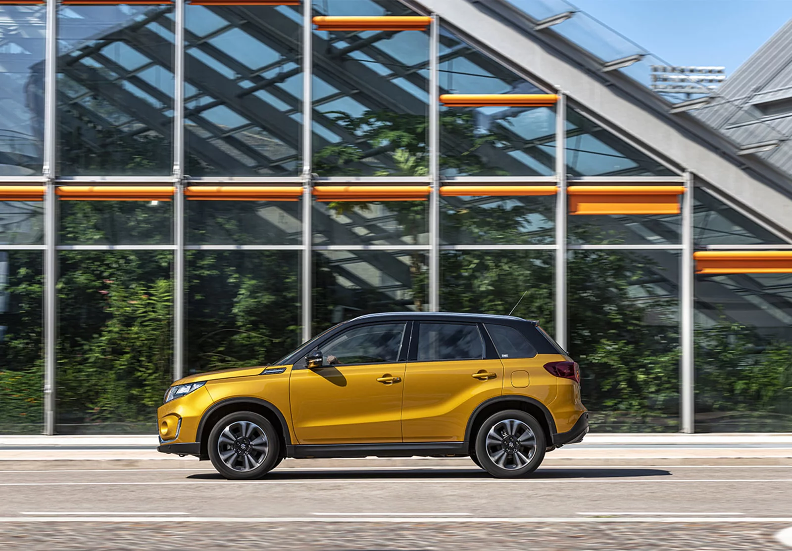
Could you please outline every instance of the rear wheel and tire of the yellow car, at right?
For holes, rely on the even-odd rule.
[[[545,455],[542,425],[524,411],[506,409],[489,417],[476,435],[476,458],[496,478],[525,477]]]

